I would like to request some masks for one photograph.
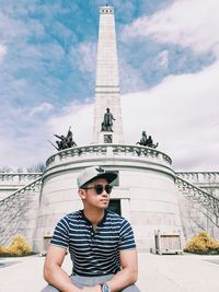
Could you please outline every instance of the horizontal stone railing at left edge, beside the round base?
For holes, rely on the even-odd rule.
[[[42,173],[0,173],[1,185],[26,185],[42,177]]]

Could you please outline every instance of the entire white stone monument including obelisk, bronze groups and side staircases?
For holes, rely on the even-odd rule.
[[[123,141],[115,39],[114,9],[102,7],[92,144],[78,147],[69,128],[43,174],[0,173],[0,245],[20,233],[45,253],[57,221],[82,208],[76,180],[91,165],[118,173],[110,209],[129,219],[139,249],[181,252],[183,235],[200,230],[219,237],[219,172],[174,172],[146,131]]]

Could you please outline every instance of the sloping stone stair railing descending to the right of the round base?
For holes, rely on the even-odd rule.
[[[219,227],[219,199],[194,184],[175,176],[175,184],[187,199],[203,207],[203,213]]]

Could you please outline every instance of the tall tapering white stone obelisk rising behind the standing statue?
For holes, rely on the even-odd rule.
[[[106,112],[115,119],[110,128],[104,125]],[[108,5],[100,8],[93,142],[124,142],[114,8]]]

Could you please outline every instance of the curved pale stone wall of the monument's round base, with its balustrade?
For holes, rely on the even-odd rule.
[[[139,248],[154,248],[154,232],[182,231],[171,159],[155,149],[97,144],[58,152],[47,160],[43,175],[35,246],[53,235],[57,221],[82,208],[76,178],[83,167],[101,165],[119,172],[112,199],[119,199],[122,215],[134,226]]]

